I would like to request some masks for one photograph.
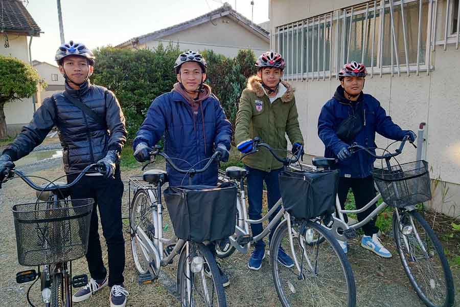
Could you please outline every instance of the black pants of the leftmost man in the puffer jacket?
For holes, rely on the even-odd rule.
[[[78,174],[67,176],[67,182],[72,182]],[[86,260],[91,277],[104,279],[107,269],[102,261],[101,242],[99,240],[99,222],[97,209],[101,218],[102,232],[105,237],[108,252],[109,287],[124,281],[125,269],[125,240],[123,238],[121,203],[123,182],[120,169],[115,172],[115,179],[104,179],[102,176],[83,176],[71,188],[73,199],[92,198],[95,200],[91,224],[89,226],[88,251]]]

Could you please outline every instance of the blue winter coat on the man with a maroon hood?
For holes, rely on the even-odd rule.
[[[204,119],[204,124],[203,124]],[[171,91],[155,98],[150,105],[147,117],[141,125],[133,142],[133,148],[141,142],[153,147],[164,136],[164,150],[171,158],[179,158],[202,168],[218,144],[230,149],[232,124],[226,119],[219,100],[211,94],[201,102],[198,114],[178,92]],[[200,161],[205,160],[201,163]],[[186,162],[174,159],[181,169],[190,169]],[[197,164],[198,163],[198,164]],[[194,185],[216,185],[218,165],[214,162],[208,170],[196,174]],[[189,176],[166,166],[169,183],[172,186],[188,185]]]

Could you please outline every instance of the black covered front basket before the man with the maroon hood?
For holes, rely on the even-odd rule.
[[[231,236],[236,225],[238,188],[179,186],[165,190],[166,206],[178,238],[197,243]]]

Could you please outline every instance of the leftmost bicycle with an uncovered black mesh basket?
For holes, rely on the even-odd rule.
[[[68,196],[69,189],[97,167],[100,166],[88,165],[72,183],[47,180],[49,183],[40,186],[29,179],[32,176],[15,169],[13,163],[8,171],[4,182],[20,178],[37,191],[35,203],[17,204],[12,208],[18,262],[21,266],[38,267],[38,272],[27,270],[16,274],[17,283],[33,281],[27,291],[27,302],[32,307],[35,306],[29,294],[39,279],[46,307],[72,307],[71,286],[79,288],[88,282],[86,274],[72,276],[72,261],[86,254],[94,200],[74,200]]]

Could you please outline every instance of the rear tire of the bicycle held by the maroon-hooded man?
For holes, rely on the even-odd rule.
[[[136,236],[134,235],[133,233],[133,229],[135,229],[135,227],[137,226],[136,225],[136,216],[137,216],[137,213],[140,213],[138,211],[138,209],[141,209],[142,208],[139,208],[139,205],[142,206],[142,204],[139,204],[139,201],[140,201],[140,198],[141,196],[143,196],[145,198],[145,200],[148,202],[148,207],[150,208],[150,204],[151,204],[151,200],[150,200],[150,196],[149,196],[149,193],[144,190],[144,189],[138,189],[135,193],[134,193],[134,196],[132,198],[132,202],[131,202],[131,212],[129,214],[129,225],[130,225],[130,232],[131,232],[131,255],[132,255],[132,260],[134,262],[134,267],[136,268],[136,271],[139,273],[139,274],[146,274],[149,272],[148,270],[148,261],[147,259],[145,258],[145,256],[142,255],[142,250],[139,250],[140,247],[139,245],[137,245],[137,242],[136,242]],[[145,204],[144,204],[145,205]],[[145,229],[143,229],[145,231]],[[141,263],[144,262],[144,265]]]

